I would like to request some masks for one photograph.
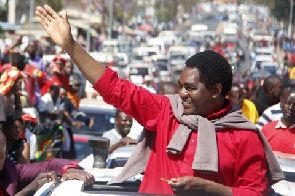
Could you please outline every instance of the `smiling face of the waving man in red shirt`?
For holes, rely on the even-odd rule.
[[[178,81],[179,95],[186,115],[207,116],[212,112],[212,93],[200,82],[199,71],[196,68],[185,68]]]

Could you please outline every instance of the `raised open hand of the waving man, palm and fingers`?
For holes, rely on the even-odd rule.
[[[65,50],[72,47],[74,39],[67,14],[59,15],[48,5],[38,6],[35,13],[38,16],[38,22],[55,44]]]

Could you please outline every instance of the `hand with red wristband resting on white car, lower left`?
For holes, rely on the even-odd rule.
[[[61,181],[73,179],[84,181],[85,186],[92,185],[95,182],[93,175],[79,169],[67,169],[61,177]]]

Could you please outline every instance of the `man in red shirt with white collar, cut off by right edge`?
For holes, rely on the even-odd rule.
[[[281,97],[283,117],[262,131],[274,151],[295,155],[295,88],[284,88]]]

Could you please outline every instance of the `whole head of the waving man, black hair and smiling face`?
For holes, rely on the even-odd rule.
[[[224,104],[232,85],[232,70],[220,54],[206,50],[186,61],[179,84],[184,113],[207,116]]]

